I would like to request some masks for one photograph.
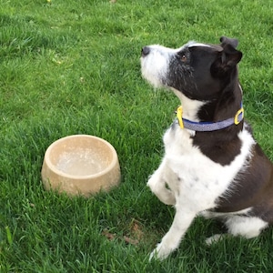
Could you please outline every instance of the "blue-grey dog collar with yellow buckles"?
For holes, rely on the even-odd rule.
[[[195,121],[190,121],[186,118],[183,118],[182,116],[183,116],[183,108],[182,106],[179,106],[177,108],[177,120],[178,120],[179,126],[182,129],[186,128],[189,130],[199,131],[199,132],[216,131],[216,130],[227,128],[228,126],[238,125],[244,119],[244,108],[241,103],[241,107],[234,117],[230,117],[225,120],[217,121],[217,122],[195,122]]]

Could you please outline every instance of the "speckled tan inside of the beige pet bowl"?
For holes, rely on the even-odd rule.
[[[114,153],[105,140],[96,136],[68,136],[49,149],[48,161],[68,176],[94,176],[106,170]]]

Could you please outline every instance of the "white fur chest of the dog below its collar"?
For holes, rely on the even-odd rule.
[[[193,146],[191,134],[192,132],[181,129],[176,124],[167,130],[164,136],[164,159],[167,162],[164,178],[175,195],[182,195],[197,203],[202,200],[200,209],[207,209],[215,206],[217,197],[227,191],[240,168],[244,166],[252,138],[247,137],[242,152],[230,165],[221,166]]]

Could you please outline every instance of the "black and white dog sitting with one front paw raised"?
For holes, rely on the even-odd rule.
[[[142,48],[142,75],[180,99],[164,136],[165,156],[148,187],[176,207],[172,226],[150,258],[167,258],[197,215],[219,217],[228,233],[257,237],[273,222],[273,165],[244,122],[238,40]],[[209,238],[207,243],[220,236]]]

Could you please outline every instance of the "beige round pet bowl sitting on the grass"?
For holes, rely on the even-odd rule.
[[[42,167],[45,189],[68,195],[108,191],[120,181],[115,148],[106,140],[87,135],[66,136],[51,144]]]

